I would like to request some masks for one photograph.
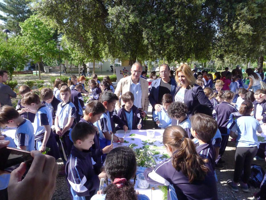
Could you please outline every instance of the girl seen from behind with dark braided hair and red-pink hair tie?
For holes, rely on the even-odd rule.
[[[103,199],[132,199],[148,200],[146,195],[137,194],[134,185],[136,182],[136,157],[129,147],[117,147],[108,153],[105,159],[107,178],[111,180],[103,194],[98,191],[91,200]],[[134,178],[131,183],[130,179]]]

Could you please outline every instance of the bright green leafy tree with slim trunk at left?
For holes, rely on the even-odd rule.
[[[54,30],[37,15],[30,16],[19,25],[26,51],[29,57],[38,63],[40,79],[40,72],[44,72],[43,58],[55,57],[58,51],[56,42],[52,39]]]

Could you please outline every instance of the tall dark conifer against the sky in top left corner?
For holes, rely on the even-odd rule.
[[[30,1],[26,0],[3,0],[0,3],[0,10],[6,16],[0,15],[0,20],[4,21],[4,28],[9,29],[16,35],[21,33],[20,22],[24,22],[32,15],[29,7]]]

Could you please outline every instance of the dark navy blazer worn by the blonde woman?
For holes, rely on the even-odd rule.
[[[175,95],[177,94],[180,88],[181,86],[177,86]],[[194,87],[192,87],[191,89],[185,90],[184,103],[187,105],[188,108],[187,115],[189,116],[189,118],[191,118],[192,116],[192,110],[199,104],[206,105],[209,108],[213,109],[212,104],[210,103],[210,100],[208,99],[208,97],[206,97],[205,93],[203,92],[202,87],[200,87],[197,84],[194,84]]]

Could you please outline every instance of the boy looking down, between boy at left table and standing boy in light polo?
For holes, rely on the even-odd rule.
[[[42,103],[49,108],[52,114],[52,117],[53,117],[53,124],[54,124],[54,119],[56,118],[57,107],[61,101],[59,101],[58,99],[56,99],[56,97],[54,97],[54,93],[51,88],[42,89],[40,96],[42,99]]]

